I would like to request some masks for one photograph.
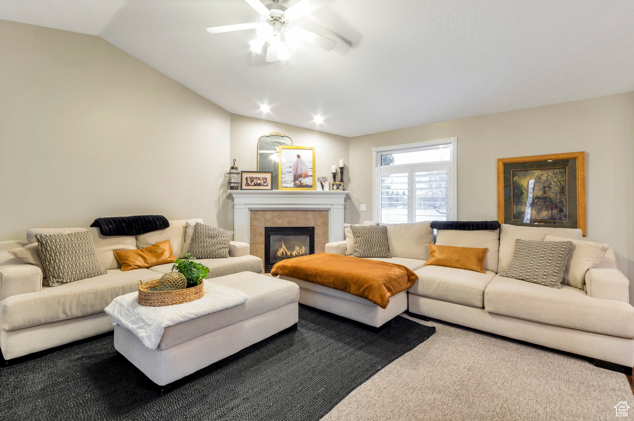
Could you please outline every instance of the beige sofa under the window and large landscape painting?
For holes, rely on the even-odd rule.
[[[427,237],[403,234],[412,224],[399,225],[403,225],[401,234],[392,236],[391,242],[406,242],[410,249],[417,243],[417,248],[427,249]],[[387,232],[390,237],[389,226]],[[437,244],[488,248],[486,273],[424,267],[424,259],[412,260],[409,254],[405,258],[398,251],[390,259],[379,260],[401,263],[417,273],[418,281],[408,290],[411,313],[588,356],[598,365],[608,361],[631,371],[634,307],[629,304],[629,281],[618,270],[611,248],[586,272],[583,289],[565,284],[556,289],[498,275],[512,260],[515,239],[543,241],[548,234],[582,239],[581,230],[514,225],[501,225],[500,230],[438,230]],[[346,250],[346,241],[326,245],[328,253],[346,254]]]

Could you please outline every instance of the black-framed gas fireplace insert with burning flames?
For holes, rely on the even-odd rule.
[[[264,227],[264,273],[278,261],[315,252],[315,227]]]

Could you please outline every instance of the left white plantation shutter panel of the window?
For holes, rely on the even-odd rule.
[[[380,222],[408,222],[410,198],[410,173],[394,172],[390,168],[380,175]]]

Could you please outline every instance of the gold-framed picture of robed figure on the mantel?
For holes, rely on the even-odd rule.
[[[279,149],[280,190],[314,190],[315,148],[313,146],[280,146]]]

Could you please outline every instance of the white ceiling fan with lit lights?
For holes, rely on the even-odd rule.
[[[302,41],[309,42],[315,46],[332,50],[337,42],[332,39],[315,34],[301,27],[288,27],[290,20],[299,19],[316,9],[332,3],[334,0],[299,0],[297,3],[286,8],[279,2],[264,6],[260,0],[245,0],[250,6],[256,9],[261,15],[262,22],[237,23],[236,25],[221,25],[209,27],[207,30],[212,34],[221,32],[231,32],[244,29],[257,29],[257,38],[250,41],[251,50],[255,53],[262,51],[262,46],[266,42],[266,61],[286,60],[290,57],[290,49],[295,49]],[[289,49],[290,47],[290,49]]]

